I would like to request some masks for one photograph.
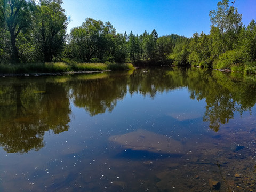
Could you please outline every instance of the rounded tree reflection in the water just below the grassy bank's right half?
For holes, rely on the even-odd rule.
[[[127,92],[129,73],[95,74],[99,78],[74,79],[70,82],[72,98],[77,107],[85,108],[91,116],[112,111],[118,100],[124,98]]]

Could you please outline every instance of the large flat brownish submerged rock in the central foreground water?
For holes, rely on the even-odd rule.
[[[125,149],[152,153],[182,154],[184,151],[180,141],[143,129],[123,135],[111,136],[109,141],[118,143]]]

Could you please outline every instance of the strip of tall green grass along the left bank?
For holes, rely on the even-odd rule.
[[[131,63],[78,63],[70,60],[50,63],[0,64],[0,74],[62,73],[134,69]]]

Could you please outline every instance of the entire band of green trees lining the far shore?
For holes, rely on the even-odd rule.
[[[256,23],[218,2],[211,10],[210,34],[158,37],[117,33],[110,22],[86,18],[67,34],[70,17],[61,0],[0,0],[0,62],[133,63],[210,67],[256,73]]]

